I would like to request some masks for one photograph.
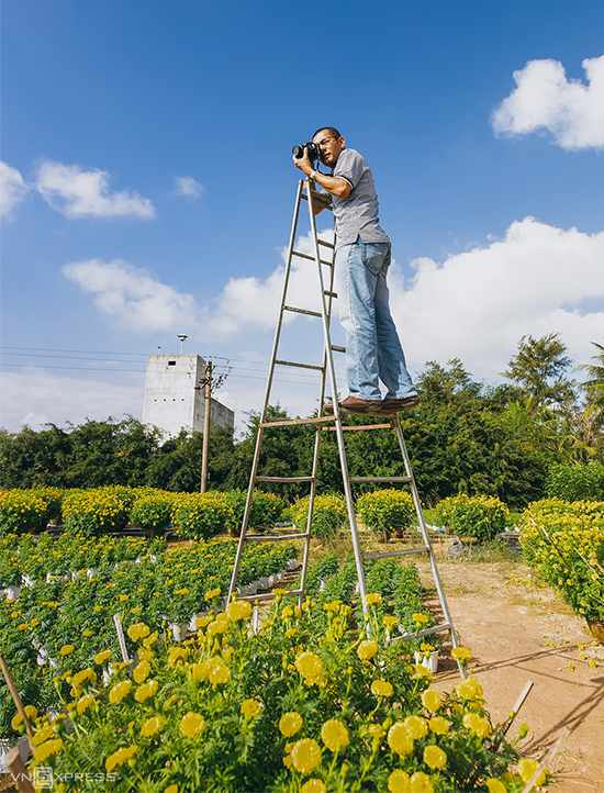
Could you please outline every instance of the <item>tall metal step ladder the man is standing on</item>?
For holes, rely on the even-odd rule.
[[[312,239],[312,249],[313,255],[305,254],[300,250],[295,250],[295,239],[297,239],[297,231],[298,231],[298,224],[300,221],[300,209],[303,204],[303,202],[306,202],[307,209],[309,209],[309,216],[310,216],[310,223],[311,223],[311,239]],[[331,340],[331,333],[329,333],[329,325],[332,321],[332,308],[333,302],[337,298],[337,294],[334,291],[334,278],[335,278],[335,266],[334,266],[334,259],[335,259],[335,224],[334,224],[334,242],[327,242],[325,239],[321,239],[316,232],[316,224],[315,224],[315,208],[317,208],[317,203],[320,202],[320,199],[317,198],[317,193],[314,189],[314,182],[310,179],[303,179],[300,180],[298,185],[298,192],[295,197],[295,206],[294,206],[294,213],[293,213],[293,222],[291,226],[291,234],[290,234],[290,242],[288,247],[288,255],[287,255],[287,263],[286,263],[286,272],[284,272],[284,279],[283,279],[283,292],[281,297],[281,305],[279,311],[279,320],[277,322],[277,328],[275,333],[275,342],[272,347],[272,356],[270,359],[270,366],[269,366],[269,372],[268,372],[268,380],[267,380],[267,388],[266,388],[266,395],[265,395],[265,402],[262,412],[260,415],[260,422],[258,424],[258,435],[256,438],[256,448],[254,453],[254,461],[251,465],[251,474],[249,478],[249,488],[247,491],[247,500],[244,511],[244,517],[242,522],[242,529],[239,534],[239,541],[237,546],[237,554],[235,557],[235,562],[233,567],[233,574],[231,578],[231,585],[228,589],[228,602],[231,601],[233,593],[237,590],[237,577],[239,572],[239,566],[243,555],[243,548],[246,543],[275,543],[275,541],[290,541],[292,539],[303,539],[304,540],[304,552],[303,552],[303,559],[302,559],[302,572],[300,578],[300,587],[295,590],[288,590],[286,594],[288,595],[297,595],[299,605],[302,606],[302,602],[304,600],[304,590],[306,584],[306,573],[309,569],[309,555],[310,555],[310,548],[311,548],[311,528],[312,528],[312,518],[313,518],[313,511],[314,511],[314,500],[316,495],[316,481],[317,481],[317,472],[318,472],[318,451],[321,447],[321,438],[322,434],[325,429],[331,429],[336,433],[337,437],[337,447],[339,453],[339,460],[342,466],[342,476],[343,476],[343,482],[344,482],[344,493],[346,499],[346,507],[348,512],[348,521],[350,525],[350,536],[353,539],[353,547],[355,552],[355,561],[356,561],[356,568],[357,568],[357,574],[358,574],[358,589],[359,589],[359,595],[361,597],[362,603],[362,610],[365,613],[368,612],[368,606],[366,603],[366,595],[367,595],[367,589],[366,589],[366,582],[365,582],[365,568],[363,562],[369,561],[371,559],[385,559],[390,557],[398,557],[398,556],[411,556],[411,555],[426,555],[429,559],[432,574],[434,578],[434,582],[436,585],[436,591],[438,593],[438,600],[440,602],[440,607],[443,610],[444,614],[444,622],[439,625],[435,625],[430,628],[426,628],[425,630],[420,630],[418,633],[413,634],[403,634],[398,637],[391,637],[391,640],[395,639],[406,639],[406,638],[417,638],[417,637],[424,637],[428,636],[430,634],[436,634],[439,632],[448,632],[450,635],[450,640],[454,647],[458,646],[457,643],[457,635],[454,628],[452,619],[449,613],[449,608],[447,605],[447,600],[445,597],[445,592],[443,589],[443,583],[440,581],[440,576],[438,572],[438,567],[436,565],[436,560],[434,557],[434,551],[432,548],[428,529],[426,526],[426,523],[424,521],[424,514],[422,512],[422,503],[420,501],[420,495],[417,492],[417,487],[415,483],[415,478],[413,476],[413,471],[411,469],[411,461],[410,457],[406,450],[405,440],[403,436],[403,431],[401,427],[401,422],[399,418],[398,413],[384,413],[381,412],[378,414],[379,417],[388,417],[388,423],[381,423],[381,424],[367,424],[362,426],[346,426],[343,424],[343,413],[339,410],[338,406],[338,390],[337,390],[337,382],[336,382],[336,370],[334,366],[334,353],[345,353],[345,348],[333,345]],[[331,208],[327,208],[331,209]],[[291,276],[291,269],[292,269],[292,259],[293,257],[301,257],[303,259],[310,259],[316,265],[316,275],[318,280],[318,294],[321,297],[321,311],[311,311],[309,309],[301,309],[293,305],[288,304],[288,289],[290,287],[290,276]],[[283,358],[279,357],[279,345],[281,340],[281,331],[283,325],[283,317],[286,315],[286,312],[293,312],[297,314],[304,314],[307,316],[313,316],[316,319],[320,319],[323,323],[323,361],[322,364],[305,364],[305,362],[297,362],[291,360],[286,360]],[[320,387],[320,398],[318,403],[321,405],[320,407],[320,414],[315,417],[310,418],[284,418],[284,420],[271,420],[268,416],[268,409],[269,409],[269,401],[272,390],[272,382],[275,378],[275,372],[277,367],[294,367],[294,368],[301,368],[301,369],[311,369],[315,370],[321,373],[321,387]],[[333,398],[333,414],[325,414],[323,406],[325,404],[325,396],[326,396],[326,386],[327,381],[329,384],[331,395]],[[258,473],[258,467],[259,467],[259,459],[260,459],[260,449],[262,445],[262,437],[266,432],[276,432],[278,431],[278,427],[286,427],[286,426],[293,426],[293,425],[315,425],[316,427],[316,434],[315,434],[315,442],[314,442],[314,450],[313,450],[313,458],[312,458],[312,470],[310,476],[305,477],[272,477],[272,476],[264,476]],[[404,462],[405,473],[404,477],[350,477],[348,471],[348,462],[346,458],[346,447],[345,447],[345,440],[344,440],[344,433],[345,432],[360,432],[360,431],[383,431],[383,429],[394,429],[396,433],[396,438],[399,442],[399,447],[401,449],[401,455]],[[306,527],[304,532],[299,532],[298,534],[289,534],[289,535],[262,535],[262,534],[249,534],[248,533],[248,524],[249,524],[249,515],[251,512],[251,500],[254,495],[254,491],[257,485],[261,484],[262,482],[281,482],[281,483],[309,483],[310,484],[310,493],[309,493],[309,516],[306,521]],[[353,499],[353,484],[361,483],[361,482],[371,482],[371,483],[400,483],[400,484],[409,484],[411,487],[411,493],[413,496],[413,504],[415,507],[415,512],[417,514],[417,521],[420,526],[420,534],[422,536],[422,545],[414,548],[403,548],[398,550],[390,550],[390,551],[380,551],[380,552],[369,552],[365,554],[361,549],[360,540],[359,540],[359,533],[357,527],[357,518],[355,515],[355,506],[354,506],[354,499]],[[272,593],[261,593],[261,594],[255,594],[255,595],[248,595],[239,597],[239,600],[249,600],[251,602],[256,601],[262,601],[262,600],[270,600],[275,595]]]

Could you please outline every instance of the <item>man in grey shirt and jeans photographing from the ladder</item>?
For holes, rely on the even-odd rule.
[[[339,403],[345,413],[393,413],[414,407],[420,399],[406,370],[405,356],[389,308],[385,282],[390,238],[379,224],[379,204],[369,166],[333,126],[313,135],[321,174],[309,159],[293,158],[297,168],[329,194],[336,219],[336,283],[339,319],[346,331],[346,378],[349,395]],[[317,201],[317,212],[325,209]],[[327,202],[328,205],[328,202]],[[382,399],[379,380],[388,389]],[[331,405],[329,405],[331,407]],[[327,409],[327,406],[326,406]]]

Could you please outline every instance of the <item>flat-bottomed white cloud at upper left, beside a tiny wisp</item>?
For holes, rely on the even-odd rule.
[[[77,165],[43,163],[36,189],[47,203],[66,217],[155,216],[149,199],[134,190],[110,192],[110,175],[104,170],[81,170]]]

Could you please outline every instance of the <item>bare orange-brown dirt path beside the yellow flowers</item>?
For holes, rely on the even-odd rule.
[[[420,569],[433,585],[427,565]],[[604,646],[551,590],[537,589],[519,562],[443,561],[439,570],[459,641],[472,650],[470,666],[494,719],[505,718],[532,680],[511,729],[516,737],[522,722],[529,725],[524,752],[539,760],[562,727],[571,730],[543,790],[604,793]],[[458,679],[449,659],[435,684],[448,690]]]

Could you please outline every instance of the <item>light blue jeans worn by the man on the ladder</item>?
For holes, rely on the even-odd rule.
[[[381,400],[378,378],[390,399],[417,392],[389,308],[385,283],[390,244],[367,243],[360,236],[336,250],[339,321],[346,331],[346,377],[353,396]]]

